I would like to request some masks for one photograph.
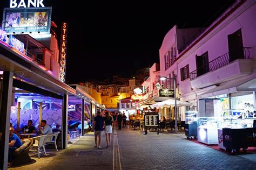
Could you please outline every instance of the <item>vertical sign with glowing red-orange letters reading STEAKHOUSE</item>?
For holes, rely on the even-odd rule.
[[[59,80],[65,82],[66,77],[66,40],[68,35],[68,24],[62,23],[62,36],[60,39],[60,72]]]

